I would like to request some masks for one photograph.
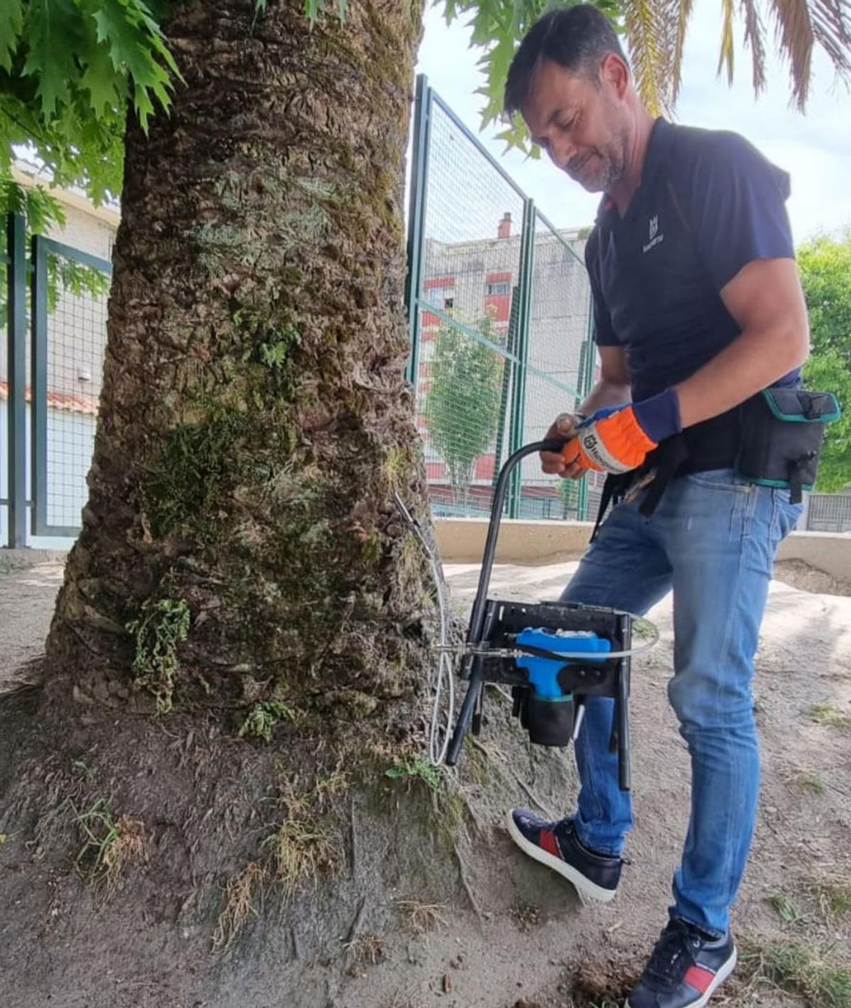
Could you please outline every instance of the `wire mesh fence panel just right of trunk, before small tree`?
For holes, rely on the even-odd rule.
[[[433,506],[484,513],[508,448],[522,194],[432,104],[416,305],[417,425]],[[420,176],[421,177],[421,176]],[[499,219],[491,220],[499,208]]]

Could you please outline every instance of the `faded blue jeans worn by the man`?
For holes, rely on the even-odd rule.
[[[800,514],[787,490],[755,486],[732,470],[680,477],[650,518],[637,503],[619,504],[562,595],[643,614],[674,590],[667,695],[691,754],[692,805],[671,913],[712,934],[728,929],[753,834],[753,657],[774,553]],[[575,824],[587,847],[620,855],[632,804],[608,749],[612,706],[595,698],[586,709],[576,744]]]

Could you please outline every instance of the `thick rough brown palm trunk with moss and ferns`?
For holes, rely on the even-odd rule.
[[[127,132],[83,531],[47,667],[159,711],[415,691],[432,606],[403,380],[402,164],[421,0],[207,0]],[[129,630],[128,630],[129,627]]]

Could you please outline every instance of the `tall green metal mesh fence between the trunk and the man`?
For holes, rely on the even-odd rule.
[[[416,418],[433,510],[489,513],[505,458],[593,380],[583,241],[535,209],[417,79],[406,288]],[[518,467],[509,517],[585,518],[585,481]]]

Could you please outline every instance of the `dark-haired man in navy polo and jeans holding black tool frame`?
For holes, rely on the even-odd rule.
[[[733,468],[736,407],[799,384],[808,353],[788,179],[733,133],[654,121],[593,7],[532,27],[505,97],[557,167],[604,194],[586,249],[600,380],[580,413],[549,431],[569,435],[585,421],[566,454],[541,456],[543,471],[625,473],[658,445],[688,452],[650,516],[640,494],[614,508],[563,599],[644,613],[674,591],[668,696],[691,754],[692,813],[667,925],[627,1005],[697,1008],[736,962],[729,911],[759,778],[753,656],[773,556],[800,513],[787,489]],[[586,709],[575,814],[508,817],[525,853],[603,900],[617,889],[632,826],[608,747],[611,704]]]

